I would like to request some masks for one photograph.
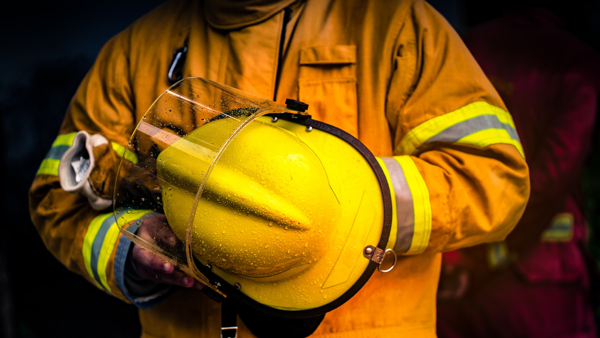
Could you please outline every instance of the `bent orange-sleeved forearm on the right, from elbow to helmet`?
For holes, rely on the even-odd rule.
[[[385,161],[396,176],[395,250],[400,253],[503,240],[529,195],[527,166],[512,145],[445,145]]]

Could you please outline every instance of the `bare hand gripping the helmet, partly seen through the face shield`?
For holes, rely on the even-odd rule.
[[[149,243],[155,243],[159,246],[176,248],[182,246],[179,238],[173,234],[173,231],[167,224],[164,215],[151,216],[142,220],[142,224],[137,231],[137,235]],[[157,283],[167,283],[184,286],[185,288],[202,289],[202,283],[194,280],[181,270],[175,268],[173,264],[164,261],[154,253],[134,244],[133,260],[136,262],[137,270],[142,277]]]

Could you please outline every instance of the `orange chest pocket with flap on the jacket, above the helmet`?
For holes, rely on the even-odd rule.
[[[298,98],[314,119],[358,137],[356,46],[301,49]]]

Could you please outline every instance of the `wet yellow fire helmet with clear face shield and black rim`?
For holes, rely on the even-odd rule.
[[[200,78],[167,89],[119,167],[121,232],[270,315],[308,318],[349,300],[393,253],[395,208],[376,157],[306,107]],[[137,237],[160,214],[164,229]]]

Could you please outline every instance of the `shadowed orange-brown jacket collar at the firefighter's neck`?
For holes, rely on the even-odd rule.
[[[296,0],[206,0],[206,21],[217,29],[236,29],[269,19]]]

